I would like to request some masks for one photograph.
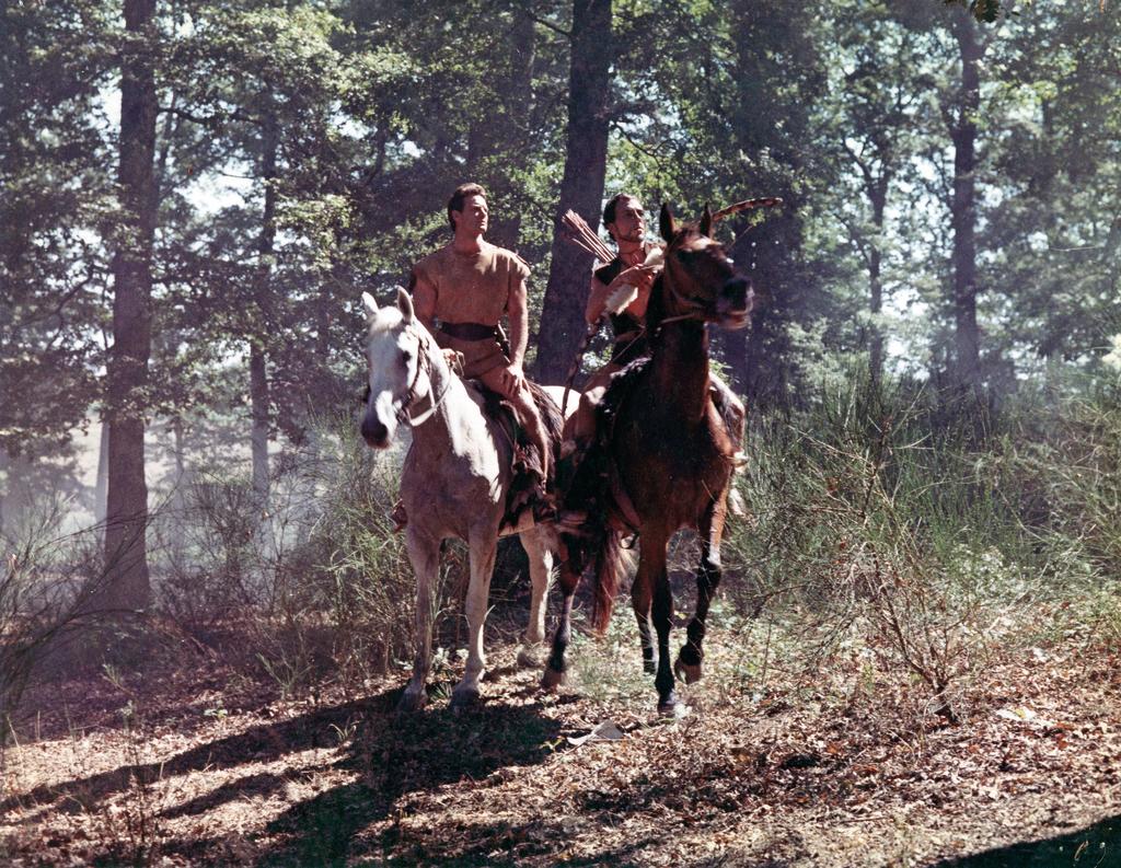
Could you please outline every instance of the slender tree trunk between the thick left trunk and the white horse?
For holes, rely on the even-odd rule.
[[[250,445],[253,456],[253,500],[258,518],[269,502],[269,380],[265,335],[271,317],[269,280],[272,274],[272,250],[276,241],[277,122],[268,110],[261,130],[261,177],[265,181],[265,211],[257,244],[257,317],[260,334],[249,342],[249,400],[252,415]]]

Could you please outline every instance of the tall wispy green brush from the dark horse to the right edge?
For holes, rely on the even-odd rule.
[[[753,419],[747,452],[733,602],[810,621],[818,661],[859,636],[951,720],[964,677],[1013,641],[1010,612],[1086,599],[1121,555],[1115,391],[1026,394],[978,425],[921,386],[850,371]]]

